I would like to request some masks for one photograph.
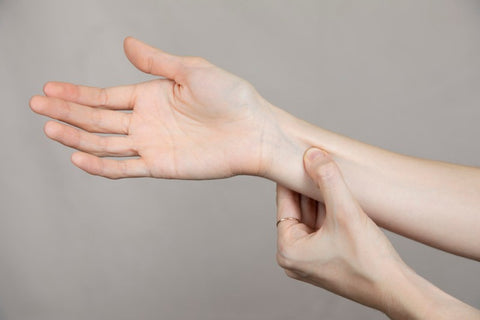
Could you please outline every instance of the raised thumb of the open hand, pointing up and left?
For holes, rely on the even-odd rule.
[[[125,39],[123,47],[128,60],[145,73],[175,81],[182,74],[182,57],[169,54],[132,37]]]

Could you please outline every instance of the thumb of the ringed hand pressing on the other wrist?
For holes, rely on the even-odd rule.
[[[305,152],[303,161],[305,171],[320,189],[327,216],[358,211],[358,203],[330,155],[321,149],[310,148]]]

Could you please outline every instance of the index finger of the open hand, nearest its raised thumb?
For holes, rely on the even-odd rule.
[[[43,92],[48,97],[112,110],[130,110],[135,104],[135,85],[94,88],[66,82],[47,82]]]

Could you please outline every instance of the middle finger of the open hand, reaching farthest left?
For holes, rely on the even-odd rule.
[[[127,134],[130,115],[95,109],[57,98],[35,96],[30,107],[36,113],[67,122],[89,132]]]

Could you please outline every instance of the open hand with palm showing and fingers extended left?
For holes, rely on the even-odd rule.
[[[138,69],[166,79],[108,89],[50,82],[46,96],[30,101],[33,111],[75,126],[49,121],[45,133],[80,151],[76,166],[108,178],[262,174],[270,106],[248,82],[202,58],[133,38],[124,46]]]

